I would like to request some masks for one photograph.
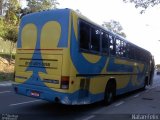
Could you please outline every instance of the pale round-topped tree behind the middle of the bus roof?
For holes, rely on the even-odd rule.
[[[123,32],[123,27],[121,24],[115,20],[110,20],[109,22],[103,22],[102,26],[109,31],[117,33],[123,37],[126,37],[126,34]]]

